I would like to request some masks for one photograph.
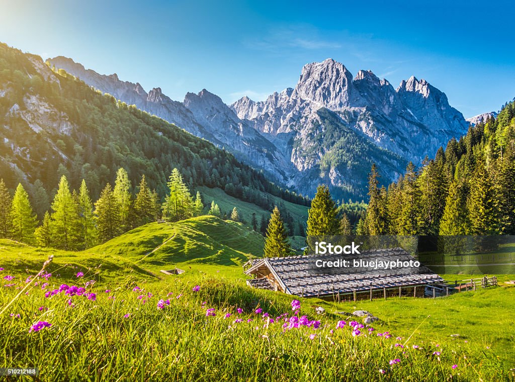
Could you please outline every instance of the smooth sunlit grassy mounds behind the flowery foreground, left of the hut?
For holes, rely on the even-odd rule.
[[[145,278],[166,277],[161,269],[216,273],[244,277],[241,265],[263,255],[264,238],[242,223],[200,216],[176,223],[149,223],[83,252],[30,247],[0,240],[4,268],[35,272],[54,255],[50,271],[71,276],[91,269],[117,279],[129,273]],[[99,265],[101,264],[100,268]],[[84,272],[85,273],[85,272]]]

